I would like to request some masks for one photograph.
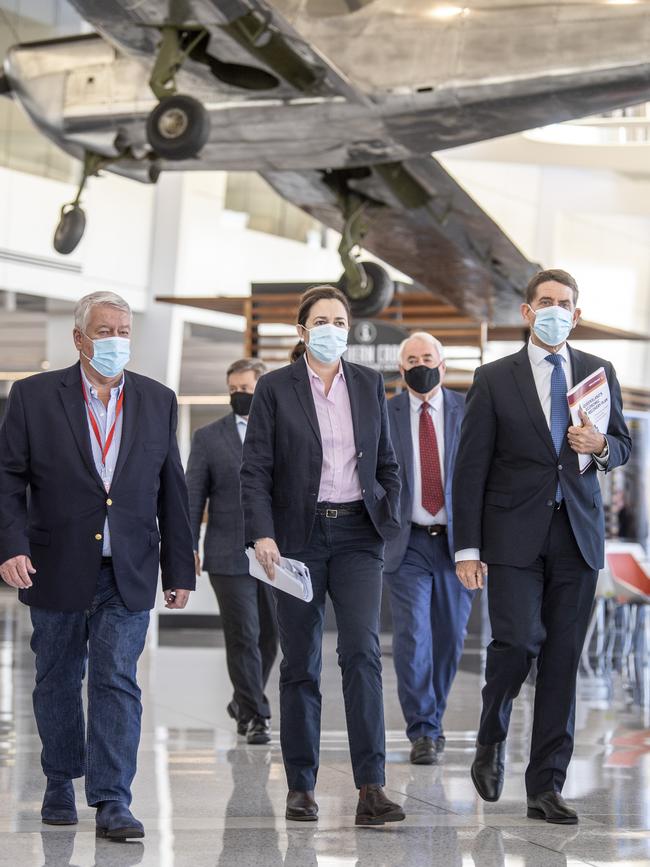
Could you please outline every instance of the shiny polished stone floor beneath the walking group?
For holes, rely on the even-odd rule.
[[[468,650],[446,716],[439,765],[413,767],[403,735],[389,654],[384,661],[388,789],[407,820],[356,829],[356,793],[344,729],[334,641],[327,639],[317,824],[283,818],[286,794],[277,729],[267,747],[233,731],[224,651],[176,640],[141,664],[144,727],[134,813],[143,843],[96,840],[94,811],[52,828],[39,817],[43,777],[31,714],[33,680],[26,612],[0,591],[0,865],[3,867],[578,867],[650,865],[648,668],[637,658],[612,676],[583,677],[577,744],[565,795],[577,827],[525,818],[523,770],[531,722],[530,686],[513,714],[507,781],[498,804],[475,794],[468,770],[476,735],[481,655]],[[203,641],[204,645],[216,645]],[[180,646],[179,646],[180,645]],[[277,675],[273,676],[277,682]],[[277,711],[277,689],[271,689]],[[277,716],[277,714],[276,714]]]

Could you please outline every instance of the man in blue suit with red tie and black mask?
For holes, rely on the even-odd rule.
[[[384,578],[393,613],[393,662],[414,765],[445,746],[442,717],[463,652],[472,592],[454,566],[451,481],[465,398],[443,388],[439,340],[426,332],[400,347],[407,391],[388,403],[402,482],[401,530],[386,545]]]

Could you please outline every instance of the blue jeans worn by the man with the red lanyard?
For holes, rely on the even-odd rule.
[[[129,611],[102,566],[87,611],[30,609],[36,655],[34,715],[51,780],[86,777],[86,797],[131,803],[142,705],[136,680],[148,611]],[[81,698],[88,665],[88,731]]]

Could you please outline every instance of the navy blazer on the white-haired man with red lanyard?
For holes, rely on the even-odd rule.
[[[20,591],[27,605],[90,606],[102,559],[96,535],[106,516],[115,579],[129,609],[153,607],[159,562],[164,589],[194,589],[174,393],[126,371],[123,413],[107,495],[93,462],[79,364],[11,389],[0,427],[0,563],[31,557],[33,586]]]

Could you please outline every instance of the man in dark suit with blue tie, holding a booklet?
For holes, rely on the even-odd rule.
[[[530,340],[479,367],[467,397],[454,476],[458,577],[472,589],[488,571],[492,642],[472,779],[498,800],[513,699],[533,659],[537,683],[528,816],[575,824],[562,799],[573,751],[578,662],[603,567],[605,523],[597,473],[624,464],[631,440],[611,363],[569,347],[580,316],[566,271],[539,272],[522,316]],[[603,367],[611,393],[606,431],[581,413],[571,425],[567,390]],[[591,456],[580,472],[578,456]]]

